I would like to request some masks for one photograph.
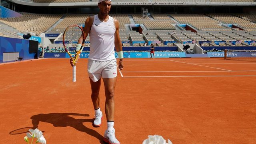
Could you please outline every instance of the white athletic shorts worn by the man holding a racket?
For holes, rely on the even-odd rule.
[[[115,78],[117,76],[116,59],[99,61],[88,60],[88,74],[93,82],[97,82],[100,78]]]

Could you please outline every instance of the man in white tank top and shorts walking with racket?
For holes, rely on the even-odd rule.
[[[95,110],[93,126],[100,126],[102,121],[99,97],[102,78],[105,86],[105,114],[108,126],[104,134],[104,141],[109,144],[120,144],[116,139],[114,129],[114,94],[117,77],[117,61],[114,47],[119,58],[118,68],[119,70],[124,68],[122,42],[119,37],[119,22],[108,15],[111,8],[111,0],[99,0],[98,8],[100,9],[98,15],[87,18],[84,27],[85,36],[87,37],[90,33],[88,75],[90,77],[91,98]],[[70,63],[73,66],[72,60]]]

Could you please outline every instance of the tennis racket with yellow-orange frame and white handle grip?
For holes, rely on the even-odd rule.
[[[76,82],[76,60],[84,48],[85,35],[78,25],[71,25],[65,29],[62,37],[63,46],[73,61],[73,82]]]

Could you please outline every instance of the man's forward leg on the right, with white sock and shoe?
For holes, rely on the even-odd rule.
[[[110,144],[120,144],[116,139],[114,129],[114,109],[115,109],[115,88],[116,88],[116,77],[114,78],[103,78],[105,86],[105,113],[107,118],[108,129],[104,134],[104,141]]]

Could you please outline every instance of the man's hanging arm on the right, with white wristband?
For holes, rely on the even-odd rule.
[[[118,20],[114,19],[114,23],[115,23],[115,26],[116,26],[116,32],[115,32],[115,47],[116,47],[116,52],[119,52],[122,55],[122,52],[123,52],[123,49],[122,49],[122,42],[120,40],[120,37],[119,37],[119,22]],[[124,65],[122,63],[122,60],[123,58],[120,58],[120,56],[118,55],[119,57],[119,63],[118,63],[118,68],[119,70],[122,70],[124,68]]]

